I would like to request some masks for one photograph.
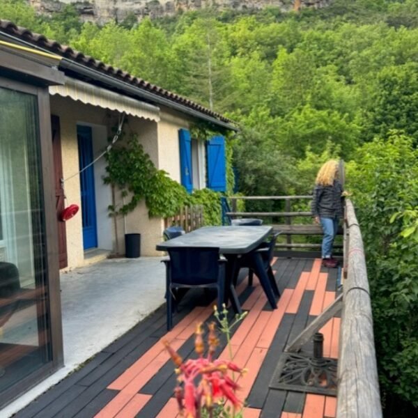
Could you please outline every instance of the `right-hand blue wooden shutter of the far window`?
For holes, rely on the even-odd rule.
[[[224,137],[212,137],[206,143],[208,161],[208,188],[226,192],[226,161]]]

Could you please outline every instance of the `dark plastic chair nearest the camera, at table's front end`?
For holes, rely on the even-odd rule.
[[[173,247],[167,250],[166,265],[167,330],[173,327],[173,306],[179,302],[181,289],[217,288],[217,306],[222,311],[225,293],[226,260],[219,258],[219,248]]]

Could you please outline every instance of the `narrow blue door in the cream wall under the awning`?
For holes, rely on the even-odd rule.
[[[77,126],[77,138],[81,171],[93,161],[91,127]],[[83,247],[89,249],[98,246],[93,165],[80,173],[80,189],[82,192]]]

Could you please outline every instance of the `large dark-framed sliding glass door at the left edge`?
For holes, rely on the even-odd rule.
[[[0,396],[52,359],[39,112],[0,84]]]

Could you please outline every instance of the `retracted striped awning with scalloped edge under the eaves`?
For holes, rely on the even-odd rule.
[[[149,119],[150,121],[160,121],[160,108],[151,104],[141,102],[125,95],[114,93],[106,88],[93,86],[77,79],[65,77],[63,86],[50,86],[51,95],[60,95],[63,98],[79,100],[84,104],[110,109],[120,113],[137,116],[138,118]]]

